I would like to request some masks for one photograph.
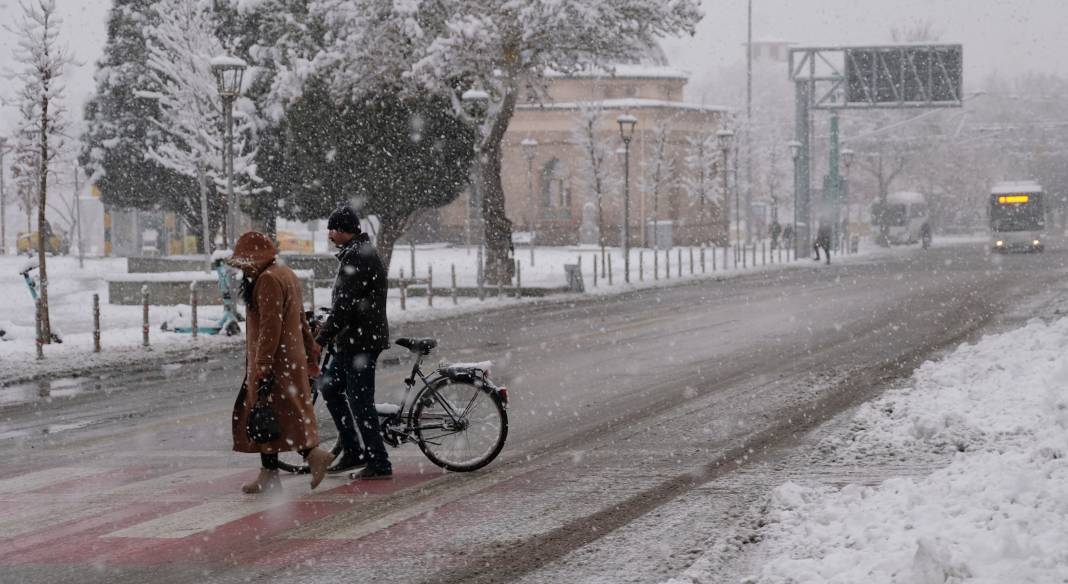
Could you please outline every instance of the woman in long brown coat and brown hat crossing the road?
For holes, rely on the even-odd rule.
[[[274,262],[274,244],[262,233],[249,232],[234,246],[227,264],[245,274],[241,294],[247,306],[245,383],[234,404],[234,449],[260,453],[260,476],[241,490],[258,493],[281,487],[278,453],[297,451],[318,486],[333,458],[318,447],[309,370],[315,367],[315,342],[300,295],[297,274]],[[267,404],[281,436],[263,444],[249,439],[246,422],[261,385],[270,388]]]

